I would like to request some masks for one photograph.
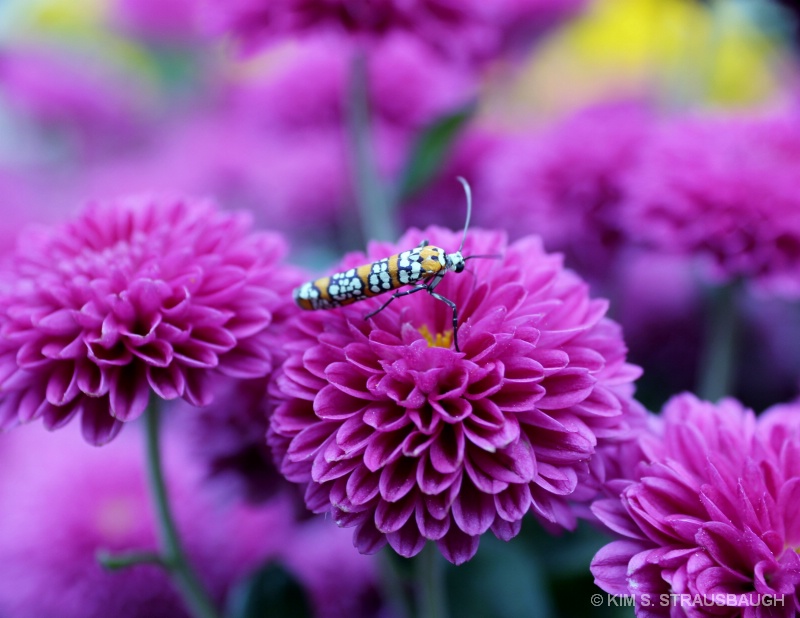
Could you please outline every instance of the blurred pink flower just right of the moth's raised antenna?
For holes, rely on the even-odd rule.
[[[487,158],[480,221],[541,234],[582,275],[607,281],[624,243],[620,207],[652,118],[644,105],[591,107],[535,134],[516,135]]]

